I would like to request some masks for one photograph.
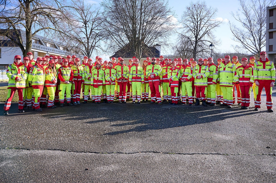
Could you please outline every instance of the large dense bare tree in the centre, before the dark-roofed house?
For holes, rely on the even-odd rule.
[[[167,0],[105,0],[103,16],[108,32],[109,49],[130,52],[141,58],[151,56],[149,46],[165,45],[174,28],[174,12]]]

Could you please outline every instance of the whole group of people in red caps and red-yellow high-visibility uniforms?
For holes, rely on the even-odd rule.
[[[261,104],[263,87],[266,91],[266,107],[272,110],[272,87],[275,82],[275,67],[272,61],[266,58],[266,52],[260,53],[260,59],[255,61],[251,56],[249,61],[242,58],[241,63],[237,56],[226,55],[223,59],[193,58],[164,59],[149,58],[140,65],[135,56],[126,65],[123,58],[112,58],[104,61],[99,56],[93,63],[92,59],[84,56],[82,63],[75,55],[38,57],[33,59],[32,52],[21,60],[16,55],[14,62],[8,66],[9,78],[8,96],[4,105],[4,115],[8,115],[12,97],[18,91],[18,112],[24,107],[35,111],[42,111],[43,107],[55,108],[80,104],[80,93],[84,103],[92,99],[100,103],[113,103],[116,96],[119,103],[126,103],[132,98],[132,103],[169,102],[171,105],[188,104],[203,106],[231,106],[235,103],[235,88],[237,103],[242,109],[248,109],[250,93],[253,89],[255,110]],[[149,99],[151,91],[151,101]],[[163,101],[161,98],[163,91]],[[132,95],[131,95],[132,92]],[[90,94],[91,93],[91,94]],[[71,101],[72,98],[72,101]]]

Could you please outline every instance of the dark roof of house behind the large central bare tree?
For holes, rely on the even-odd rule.
[[[114,55],[110,56],[110,58],[112,58],[112,57],[132,58],[133,56],[136,56],[128,51],[125,51],[125,50],[129,50],[129,49],[127,49],[127,46],[128,45],[126,45],[124,48],[121,48],[120,50],[116,51]],[[156,44],[155,46],[160,46],[160,45]],[[142,53],[142,58],[146,58],[148,56],[156,57],[156,58],[160,57],[160,51],[158,49],[156,49],[154,46],[148,46],[148,48],[149,48],[149,51],[147,53]]]

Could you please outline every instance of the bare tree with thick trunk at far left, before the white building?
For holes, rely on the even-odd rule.
[[[1,35],[20,47],[24,56],[32,49],[32,37],[40,31],[59,31],[64,20],[63,4],[58,0],[3,0],[0,11]],[[22,29],[25,29],[24,43]]]

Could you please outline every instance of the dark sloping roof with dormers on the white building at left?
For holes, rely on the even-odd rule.
[[[22,30],[20,30],[19,32],[21,33],[21,39],[23,41],[23,45],[26,46],[26,36],[25,36],[26,32],[22,31]],[[0,31],[0,34],[1,34],[1,31]],[[14,34],[14,37],[16,37],[15,34]],[[33,38],[38,39],[41,44],[32,43],[32,49],[41,50],[41,51],[45,51],[45,52],[51,52],[51,53],[55,53],[55,54],[62,54],[62,55],[72,55],[73,54],[79,58],[84,57],[84,55],[81,55],[81,54],[72,53],[72,52],[69,52],[66,50],[60,50],[59,46],[62,46],[63,48],[66,48],[67,46],[65,46],[64,44],[62,44],[58,41],[53,41],[52,39],[48,39],[46,37],[42,37],[39,35],[35,35]],[[45,41],[48,43],[54,44],[55,48],[46,46]],[[2,41],[1,45],[2,46],[16,46],[14,44],[14,42],[11,40]]]

